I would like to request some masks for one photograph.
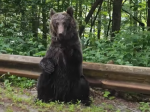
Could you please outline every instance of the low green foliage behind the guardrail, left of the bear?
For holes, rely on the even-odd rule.
[[[45,52],[46,48],[40,40],[35,41],[32,35],[26,35],[24,39],[20,37],[0,37],[0,53],[43,56]]]

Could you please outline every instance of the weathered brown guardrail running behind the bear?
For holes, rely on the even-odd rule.
[[[41,57],[0,54],[0,74],[11,73],[37,79]],[[150,68],[83,62],[91,86],[150,94]]]

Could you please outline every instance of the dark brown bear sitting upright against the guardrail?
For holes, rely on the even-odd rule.
[[[37,84],[37,99],[42,102],[81,101],[89,106],[89,83],[83,75],[82,50],[73,17],[73,8],[66,12],[50,11],[51,43],[40,61],[42,73]]]

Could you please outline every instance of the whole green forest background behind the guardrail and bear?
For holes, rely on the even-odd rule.
[[[0,53],[44,56],[50,9],[69,6],[84,61],[150,66],[150,0],[0,0]]]

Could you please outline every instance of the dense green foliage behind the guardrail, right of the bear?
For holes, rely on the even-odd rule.
[[[83,49],[84,61],[150,66],[150,32],[130,33],[120,31],[113,42],[105,39],[90,40]]]

